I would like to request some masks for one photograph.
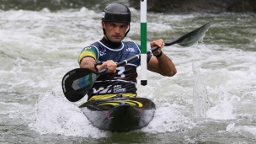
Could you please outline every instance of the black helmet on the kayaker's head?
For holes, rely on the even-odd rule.
[[[131,11],[120,3],[111,3],[102,12],[102,20],[131,23]]]

